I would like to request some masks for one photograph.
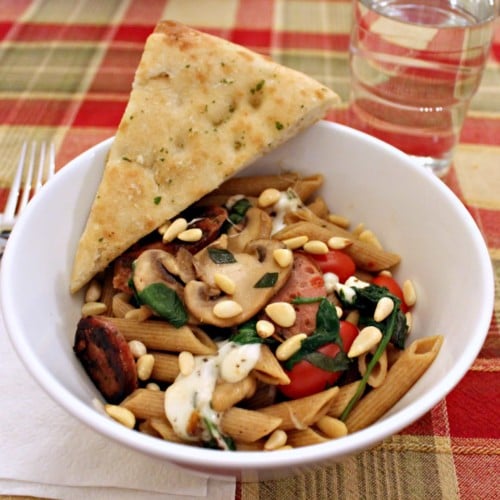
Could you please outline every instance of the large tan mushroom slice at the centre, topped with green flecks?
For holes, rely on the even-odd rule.
[[[279,241],[259,239],[248,243],[244,252],[237,253],[229,252],[227,241],[220,238],[195,255],[193,264],[199,279],[187,283],[184,291],[184,301],[192,316],[201,323],[222,328],[252,318],[286,283],[292,270],[291,264],[282,268],[274,260],[274,250],[284,248]],[[231,258],[226,258],[228,256]],[[214,295],[215,276],[221,274],[234,282],[232,295],[223,292]],[[241,310],[231,317],[215,314],[214,307],[227,300],[239,304]],[[217,312],[220,308],[215,309]]]

